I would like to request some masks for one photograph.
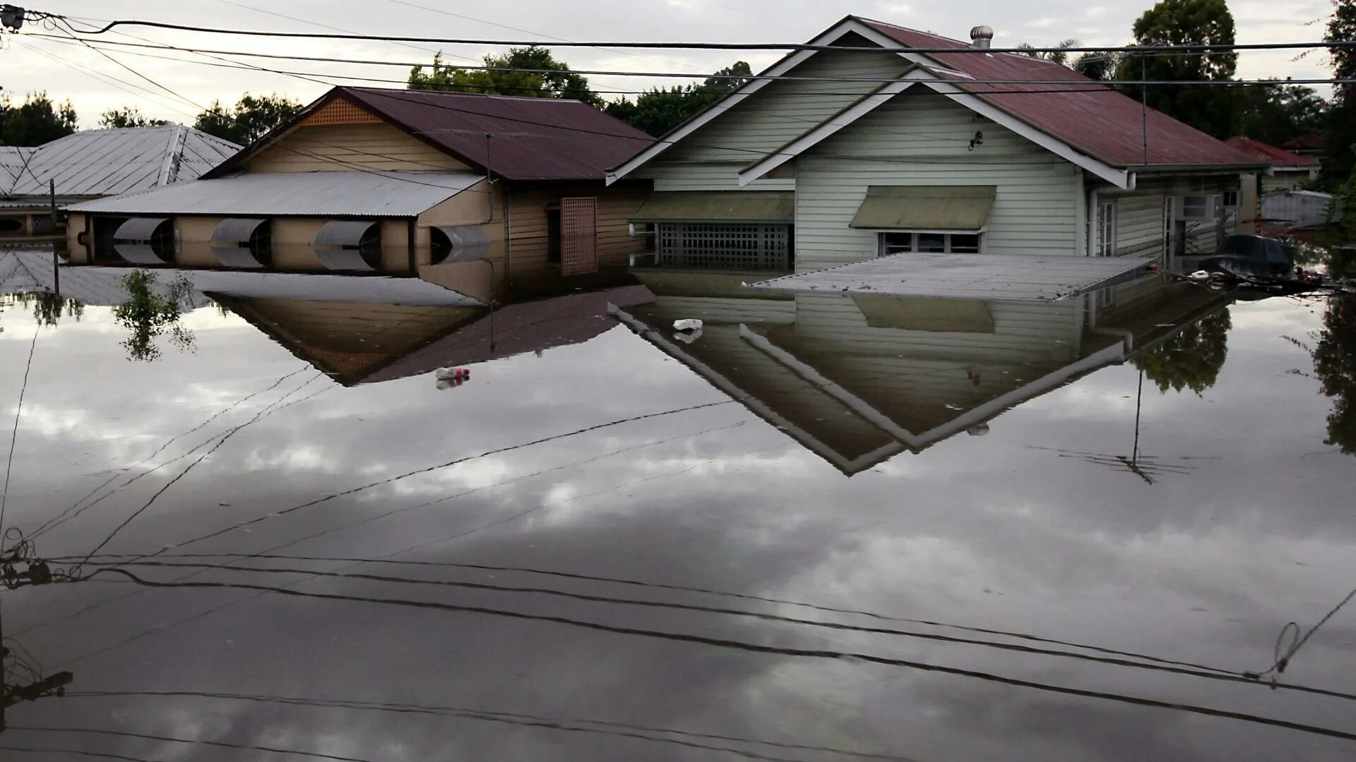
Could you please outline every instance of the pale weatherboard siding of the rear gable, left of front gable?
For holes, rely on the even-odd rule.
[[[824,52],[788,72],[797,77],[894,79],[911,64],[896,53]],[[780,149],[880,87],[872,81],[777,81],[685,137],[637,171],[656,191],[738,190],[739,171]],[[793,190],[792,179],[762,179],[744,190]]]

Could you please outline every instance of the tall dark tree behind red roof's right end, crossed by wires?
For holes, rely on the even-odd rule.
[[[1234,16],[1224,0],[1161,0],[1135,22],[1135,45],[1233,45]],[[1150,81],[1229,81],[1238,68],[1231,50],[1178,56],[1131,53],[1119,79]],[[1149,106],[1169,117],[1227,138],[1238,130],[1238,92],[1218,85],[1131,85],[1134,95],[1147,92]]]

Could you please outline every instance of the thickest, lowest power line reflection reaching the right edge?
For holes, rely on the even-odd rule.
[[[777,645],[763,645],[761,643],[749,643],[749,641],[742,641],[742,640],[730,640],[730,639],[708,637],[708,636],[701,636],[701,635],[690,635],[690,633],[679,633],[679,632],[666,632],[666,630],[654,630],[654,629],[644,629],[644,628],[631,628],[631,626],[620,626],[620,625],[607,625],[607,624],[602,624],[602,622],[590,622],[590,621],[583,621],[583,620],[574,620],[574,618],[570,618],[570,617],[559,617],[559,616],[548,616],[548,614],[529,614],[529,613],[525,613],[525,611],[513,611],[513,610],[509,610],[509,609],[490,609],[490,607],[485,607],[485,606],[462,606],[462,605],[456,605],[456,603],[442,603],[442,602],[434,602],[434,601],[415,601],[415,599],[404,599],[404,598],[372,598],[372,597],[363,597],[363,595],[340,595],[340,594],[336,594],[336,593],[301,593],[301,591],[297,591],[297,590],[287,590],[285,587],[271,587],[271,586],[263,586],[263,584],[245,584],[245,583],[225,583],[225,582],[159,583],[159,582],[151,582],[151,580],[146,580],[146,579],[141,579],[140,576],[137,576],[137,575],[134,575],[134,574],[132,574],[132,572],[129,572],[126,569],[98,569],[98,571],[94,572],[94,575],[99,575],[99,574],[115,574],[115,575],[121,575],[121,576],[125,576],[125,578],[130,579],[132,582],[134,582],[137,584],[146,586],[146,587],[165,587],[165,588],[188,587],[188,588],[258,590],[258,591],[263,591],[263,593],[277,593],[279,595],[290,595],[290,597],[297,597],[297,598],[315,598],[315,599],[320,599],[320,601],[350,601],[350,602],[362,602],[362,603],[377,603],[377,605],[384,605],[384,606],[401,606],[401,607],[426,609],[426,610],[437,610],[437,611],[456,611],[456,613],[466,613],[466,614],[485,614],[485,616],[495,616],[495,617],[506,617],[506,618],[511,618],[511,620],[526,620],[526,621],[551,622],[551,624],[559,624],[559,625],[565,625],[565,626],[576,626],[576,628],[583,628],[583,629],[590,629],[590,630],[597,630],[597,632],[607,632],[607,633],[613,633],[613,635],[631,635],[631,636],[637,636],[637,637],[652,637],[652,639],[659,639],[659,640],[669,640],[669,641],[678,641],[678,643],[690,643],[690,644],[696,644],[696,645],[712,645],[712,647],[717,647],[717,648],[730,648],[730,649],[736,649],[736,651],[746,651],[746,652],[751,652],[751,654],[762,654],[762,655],[773,655],[773,656],[799,656],[799,658],[804,658],[804,659],[829,659],[829,660],[835,660],[835,662],[853,662],[853,660],[856,660],[856,662],[866,662],[866,663],[871,663],[871,664],[881,664],[881,666],[890,666],[890,667],[903,667],[903,668],[910,668],[910,670],[918,670],[918,671],[926,671],[926,673],[937,673],[937,674],[945,674],[945,675],[968,677],[968,678],[980,679],[980,681],[986,681],[986,682],[994,682],[994,683],[999,683],[999,685],[1009,685],[1009,686],[1014,686],[1014,687],[1026,687],[1026,689],[1032,689],[1032,690],[1059,693],[1059,694],[1064,694],[1064,696],[1078,696],[1078,697],[1083,697],[1083,698],[1100,698],[1100,700],[1116,701],[1116,702],[1121,702],[1121,704],[1131,704],[1131,705],[1136,705],[1136,706],[1151,706],[1151,708],[1158,708],[1158,709],[1172,709],[1172,710],[1177,710],[1177,712],[1189,712],[1189,713],[1203,715],[1203,716],[1210,716],[1210,717],[1222,717],[1222,719],[1230,719],[1230,720],[1239,720],[1239,721],[1245,721],[1245,723],[1257,723],[1257,724],[1264,724],[1264,725],[1271,725],[1271,727],[1279,727],[1279,728],[1285,728],[1285,729],[1292,729],[1292,731],[1299,731],[1299,732],[1323,735],[1323,736],[1329,736],[1329,738],[1340,738],[1340,739],[1344,739],[1344,740],[1356,740],[1356,734],[1352,734],[1352,732],[1338,731],[1338,729],[1334,729],[1334,728],[1325,728],[1325,727],[1319,727],[1319,725],[1309,725],[1309,724],[1303,724],[1303,723],[1292,723],[1290,720],[1280,720],[1280,719],[1276,719],[1276,717],[1264,717],[1264,716],[1260,716],[1260,715],[1248,715],[1248,713],[1243,713],[1243,712],[1230,712],[1230,710],[1226,710],[1226,709],[1215,709],[1215,708],[1210,708],[1210,706],[1197,706],[1197,705],[1191,705],[1191,704],[1178,704],[1178,702],[1170,702],[1170,701],[1159,701],[1159,700],[1155,700],[1155,698],[1144,698],[1144,697],[1139,697],[1139,696],[1127,696],[1127,694],[1108,693],[1108,691],[1101,691],[1101,690],[1088,690],[1088,689],[1070,687],[1070,686],[1062,686],[1062,685],[1043,683],[1043,682],[1026,681],[1026,679],[1020,679],[1020,678],[1010,678],[1010,677],[1005,677],[1005,675],[997,675],[997,674],[991,674],[991,673],[982,673],[982,671],[978,671],[978,670],[965,670],[965,668],[961,668],[961,667],[948,667],[948,666],[942,666],[942,664],[929,664],[929,663],[923,663],[923,662],[911,662],[911,660],[907,660],[907,659],[894,659],[894,658],[888,658],[888,656],[877,656],[875,654],[846,652],[846,651],[833,651],[833,649],[820,649],[820,648],[811,649],[811,648],[786,648],[786,647],[777,647]],[[91,575],[91,576],[94,576],[94,575]]]

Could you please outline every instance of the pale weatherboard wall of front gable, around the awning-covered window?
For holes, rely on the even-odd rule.
[[[877,235],[848,225],[888,184],[995,186],[984,252],[1078,254],[1073,164],[942,95],[904,94],[797,159],[796,270],[876,256]]]

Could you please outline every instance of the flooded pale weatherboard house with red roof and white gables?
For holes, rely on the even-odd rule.
[[[849,16],[607,180],[654,182],[632,221],[677,268],[1199,254],[1249,224],[1256,157],[991,37]]]

